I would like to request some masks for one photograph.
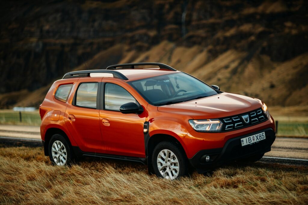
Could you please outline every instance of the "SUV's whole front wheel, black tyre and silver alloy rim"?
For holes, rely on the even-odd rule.
[[[177,179],[188,174],[188,160],[180,146],[173,142],[160,142],[152,155],[152,165],[156,176]]]

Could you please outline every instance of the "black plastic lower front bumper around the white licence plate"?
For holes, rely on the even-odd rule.
[[[265,132],[265,140],[244,147],[241,146],[241,138],[260,132]],[[255,154],[270,152],[275,138],[276,133],[274,130],[272,128],[266,128],[257,132],[231,138],[225,143],[223,148],[200,150],[188,160],[190,164],[197,169],[198,173],[204,173],[229,161],[236,161]],[[210,156],[209,162],[205,161],[207,155]]]

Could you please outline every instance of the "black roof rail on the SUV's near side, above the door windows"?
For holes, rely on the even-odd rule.
[[[89,77],[90,73],[111,73],[113,77],[120,78],[122,80],[128,80],[128,78],[122,73],[115,70],[81,70],[66,73],[62,79],[73,78],[73,77]]]

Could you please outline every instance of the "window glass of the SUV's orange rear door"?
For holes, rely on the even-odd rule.
[[[96,108],[98,83],[81,83],[76,93],[76,105]]]

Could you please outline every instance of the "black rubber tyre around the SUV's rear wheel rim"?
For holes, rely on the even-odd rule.
[[[60,141],[65,148],[65,152],[61,152],[63,156],[60,154],[59,157],[61,158],[62,156],[62,159],[65,159],[65,163],[63,163],[63,161],[59,159],[59,163],[57,164],[52,156],[52,150],[53,150],[52,146],[55,141]],[[62,151],[64,151],[64,149],[62,149]],[[74,153],[72,152],[71,145],[61,134],[54,134],[53,136],[51,136],[51,139],[48,144],[48,154],[49,154],[49,159],[53,165],[59,165],[59,166],[71,165],[71,163],[74,161]]]

